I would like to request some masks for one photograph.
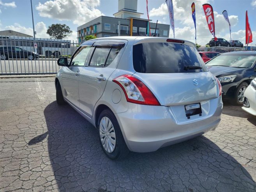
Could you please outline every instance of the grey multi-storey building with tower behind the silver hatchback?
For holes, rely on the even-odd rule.
[[[78,42],[85,41],[84,37],[87,35],[96,37],[149,36],[151,32],[152,36],[155,33],[156,23],[140,18],[143,13],[137,12],[137,4],[138,0],[118,0],[118,12],[113,14],[115,17],[100,16],[77,28]],[[120,30],[118,23],[120,23]],[[156,36],[169,37],[169,28],[169,25],[158,23]]]

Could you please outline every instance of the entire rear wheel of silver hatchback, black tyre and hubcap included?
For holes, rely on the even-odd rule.
[[[109,126],[105,127],[104,123],[108,123]],[[112,124],[112,127],[109,123]],[[117,122],[117,118],[110,109],[103,110],[99,115],[97,131],[99,134],[101,148],[109,159],[124,159],[128,155],[129,149],[127,148],[127,145],[124,141],[124,137]],[[104,141],[109,141],[110,143],[105,143]],[[111,141],[113,141],[115,145]],[[103,145],[103,143],[105,144]]]

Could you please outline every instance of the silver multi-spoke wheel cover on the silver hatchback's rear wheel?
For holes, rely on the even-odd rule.
[[[105,151],[112,153],[116,146],[116,134],[112,122],[106,116],[101,119],[99,134]]]

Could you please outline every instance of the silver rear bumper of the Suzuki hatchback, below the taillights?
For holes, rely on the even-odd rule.
[[[146,106],[128,104],[128,110],[117,113],[117,120],[129,150],[156,151],[214,130],[222,111],[221,97],[201,102],[202,116],[185,116],[181,106]]]

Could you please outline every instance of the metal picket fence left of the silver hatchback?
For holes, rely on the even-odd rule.
[[[0,37],[0,75],[56,74],[58,58],[70,58],[78,46],[67,40]]]

